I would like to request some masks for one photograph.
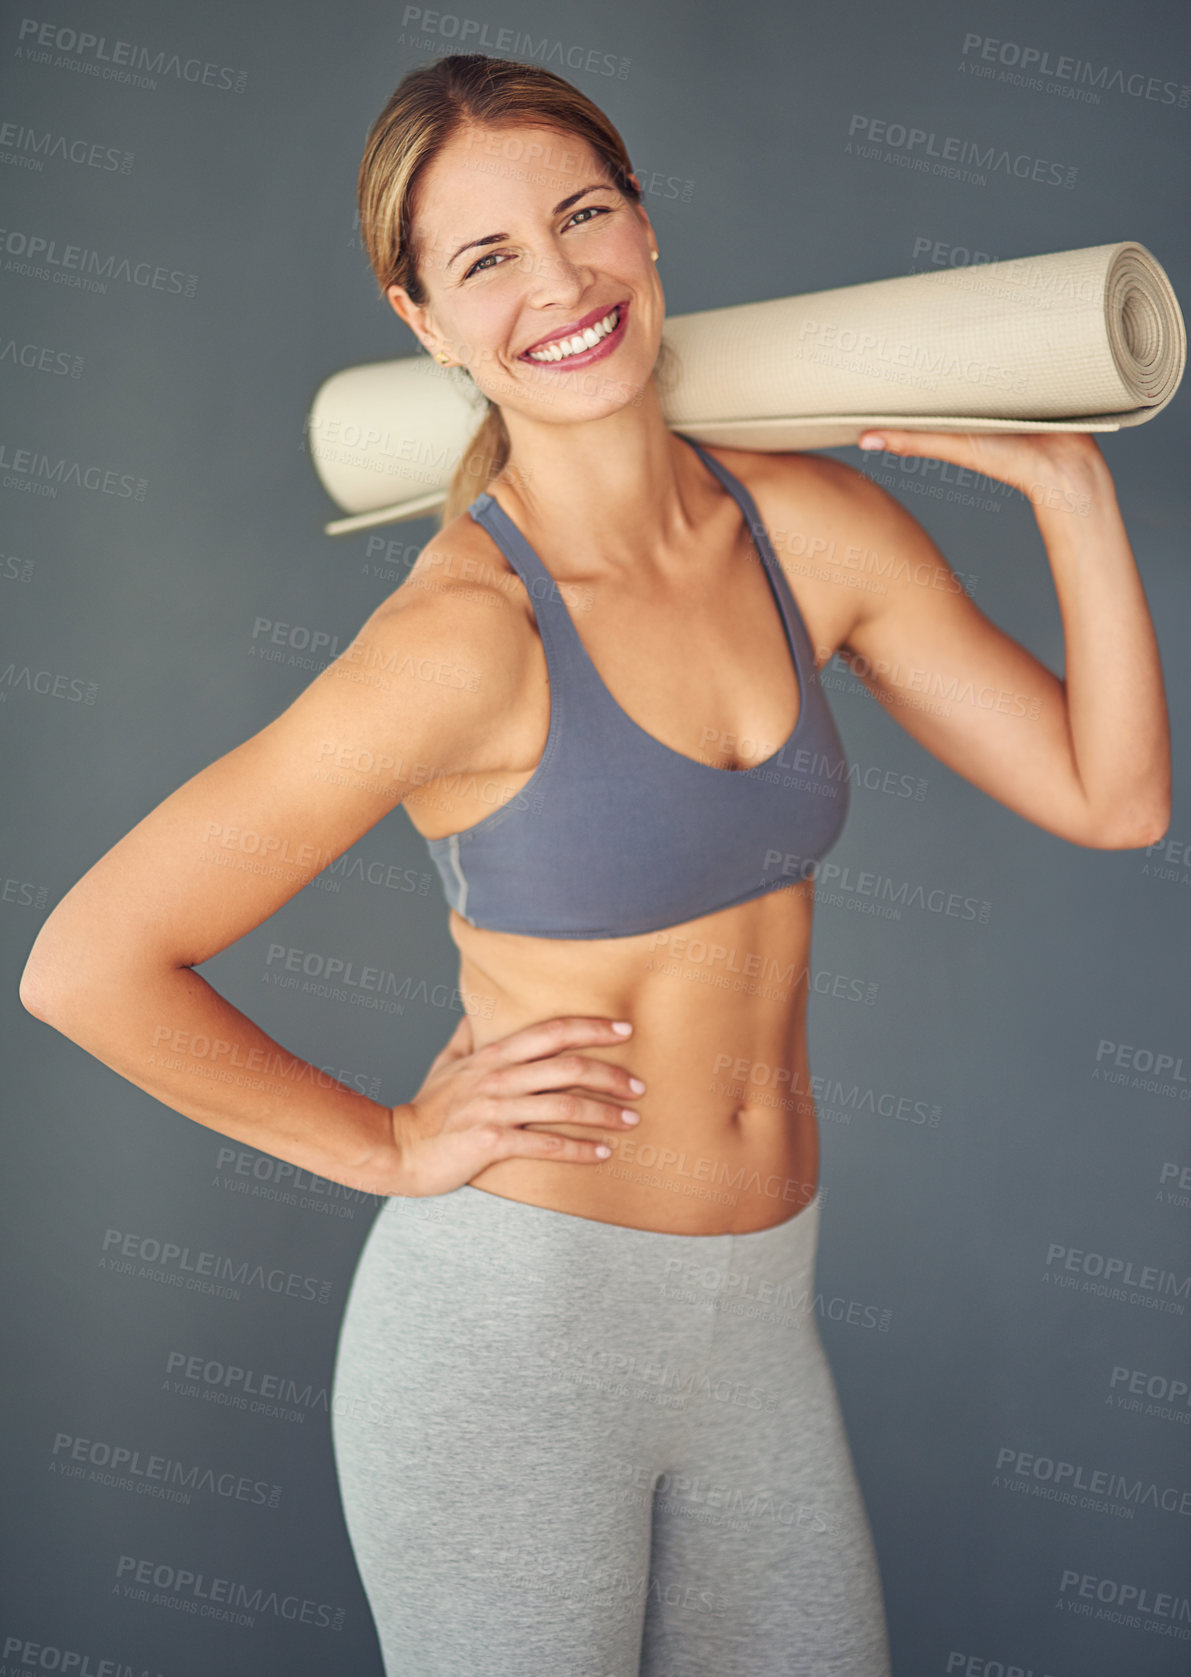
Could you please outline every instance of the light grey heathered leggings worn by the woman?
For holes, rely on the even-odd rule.
[[[387,1677],[889,1677],[819,1216],[663,1234],[470,1184],[384,1202],[332,1437]]]

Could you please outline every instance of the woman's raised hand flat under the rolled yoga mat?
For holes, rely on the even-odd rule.
[[[1112,481],[1090,431],[904,431],[881,426],[862,431],[859,441],[861,448],[884,448],[889,454],[949,459],[954,466],[1008,483],[1033,505],[1043,505],[1050,491],[1094,495]]]

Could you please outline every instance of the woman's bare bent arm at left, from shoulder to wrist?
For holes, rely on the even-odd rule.
[[[500,761],[527,669],[517,607],[500,589],[411,587],[414,574],[289,709],[99,857],[44,922],[20,981],[30,1013],[164,1105],[377,1194],[404,1192],[394,1110],[409,1108],[317,1072],[193,968],[413,787]],[[601,1026],[577,1040],[614,1038]]]

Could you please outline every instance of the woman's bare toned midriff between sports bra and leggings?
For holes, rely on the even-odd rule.
[[[629,1020],[622,1046],[582,1053],[646,1085],[632,1130],[533,1125],[604,1140],[607,1160],[502,1159],[471,1186],[671,1234],[741,1234],[797,1216],[819,1182],[805,1031],[812,890],[797,882],[683,926],[582,941],[493,932],[451,911],[476,1048],[557,1015]]]

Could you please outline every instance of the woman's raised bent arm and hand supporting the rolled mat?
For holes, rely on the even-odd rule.
[[[1030,500],[1058,595],[1065,678],[983,615],[892,495],[820,456],[837,503],[830,522],[876,550],[884,584],[856,589],[840,656],[934,756],[1035,825],[1095,849],[1157,842],[1171,818],[1162,667],[1094,436],[877,434],[892,454],[946,459]]]

